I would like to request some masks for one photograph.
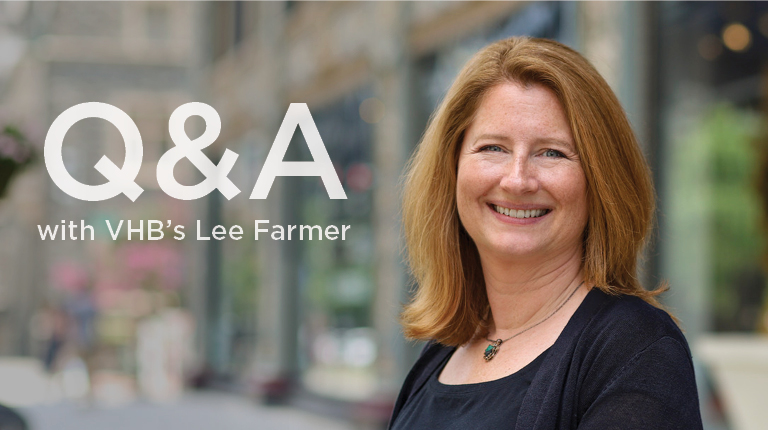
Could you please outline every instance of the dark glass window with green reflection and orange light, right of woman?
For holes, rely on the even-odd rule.
[[[661,275],[689,336],[753,331],[766,291],[768,5],[660,7]]]

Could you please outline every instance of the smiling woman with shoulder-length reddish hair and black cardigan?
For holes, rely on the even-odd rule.
[[[404,331],[431,342],[390,428],[701,428],[686,340],[636,277],[653,212],[588,61],[522,37],[476,54],[406,180]]]

